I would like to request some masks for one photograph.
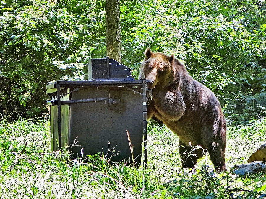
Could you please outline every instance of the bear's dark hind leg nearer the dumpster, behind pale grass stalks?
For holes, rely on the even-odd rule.
[[[182,168],[194,168],[198,159],[202,157],[202,149],[192,149],[180,140],[178,145]]]

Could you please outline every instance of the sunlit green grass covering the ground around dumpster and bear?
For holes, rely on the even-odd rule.
[[[226,165],[246,163],[266,141],[266,119],[229,126]],[[27,145],[25,145],[27,143]],[[215,174],[208,157],[194,173],[181,169],[178,137],[165,126],[148,125],[147,169],[99,156],[86,164],[51,152],[46,120],[0,124],[0,198],[263,198],[266,175],[245,178]],[[25,150],[24,150],[25,149]],[[207,165],[207,166],[206,166]]]

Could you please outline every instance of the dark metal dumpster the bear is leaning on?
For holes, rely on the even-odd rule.
[[[51,149],[67,144],[73,158],[103,153],[113,162],[140,165],[142,148],[147,166],[146,80],[134,80],[131,70],[116,60],[91,59],[89,80],[46,85],[51,110]],[[144,147],[142,147],[144,143]]]

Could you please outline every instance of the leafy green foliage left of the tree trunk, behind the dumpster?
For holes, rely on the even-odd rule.
[[[1,114],[40,116],[46,111],[43,93],[47,82],[78,73],[74,65],[86,63],[97,48],[95,43],[103,46],[99,20],[103,14],[91,3],[1,1]],[[59,70],[55,64],[61,60],[72,64]]]

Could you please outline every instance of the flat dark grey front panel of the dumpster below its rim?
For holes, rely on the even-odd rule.
[[[80,150],[84,148],[84,155],[103,152],[104,154],[108,153],[109,158],[112,152],[108,152],[108,150],[114,149],[112,161],[132,159],[127,130],[133,145],[134,160],[140,163],[143,139],[142,96],[126,88],[97,88],[92,86],[79,89],[71,100],[97,97],[114,97],[125,100],[126,110],[110,110],[108,109],[108,103],[105,102],[71,104],[69,144],[74,142],[75,139],[77,145],[81,145],[73,146],[74,157],[77,154],[80,156]]]

